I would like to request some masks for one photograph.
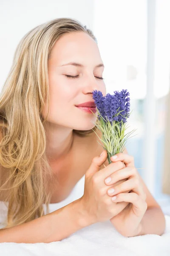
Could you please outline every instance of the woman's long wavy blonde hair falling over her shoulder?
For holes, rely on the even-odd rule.
[[[49,113],[48,58],[56,41],[65,33],[91,30],[77,20],[59,18],[31,29],[20,41],[13,64],[0,94],[0,196],[8,202],[6,228],[44,215],[51,193],[51,168],[45,154],[42,109]],[[93,130],[76,131],[87,136]],[[4,182],[2,183],[2,180]]]

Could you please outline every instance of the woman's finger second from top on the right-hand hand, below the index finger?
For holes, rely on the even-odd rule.
[[[118,163],[118,162],[117,162]],[[109,177],[105,179],[105,184],[110,186],[119,180],[124,180],[126,178],[132,177],[136,175],[136,169],[132,167],[125,167],[120,169],[114,173],[112,173]],[[111,179],[108,179],[111,178]]]

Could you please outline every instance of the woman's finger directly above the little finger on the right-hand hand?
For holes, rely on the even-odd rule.
[[[125,182],[120,183],[115,187],[109,188],[107,192],[108,192],[108,195],[113,196],[113,195],[120,194],[122,192],[133,190],[137,195],[142,197],[143,189],[142,189],[142,186],[138,184],[139,182],[136,181],[135,178],[131,178],[129,180],[126,180]]]

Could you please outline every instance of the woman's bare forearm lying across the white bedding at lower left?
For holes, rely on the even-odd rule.
[[[40,218],[0,230],[0,243],[49,243],[67,238],[90,225],[79,207],[79,199]]]

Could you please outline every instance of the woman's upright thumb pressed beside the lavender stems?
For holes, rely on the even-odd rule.
[[[99,172],[100,167],[103,163],[105,163],[107,157],[108,152],[106,150],[102,151],[102,154],[100,154],[100,156],[94,157],[88,171],[86,172],[86,175],[91,176],[94,175],[94,173]]]

